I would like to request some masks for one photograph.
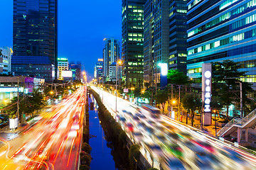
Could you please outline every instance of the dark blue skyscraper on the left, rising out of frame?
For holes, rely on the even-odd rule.
[[[12,70],[16,75],[53,81],[55,71],[57,78],[57,2],[14,0]]]

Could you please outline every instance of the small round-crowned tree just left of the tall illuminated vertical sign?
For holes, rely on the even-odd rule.
[[[183,98],[181,98],[181,103],[183,108],[191,111],[191,126],[193,126],[195,111],[201,111],[202,108],[201,98],[196,94],[186,94],[183,96]]]

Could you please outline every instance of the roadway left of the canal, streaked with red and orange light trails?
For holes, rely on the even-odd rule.
[[[0,169],[78,169],[85,87],[48,108],[18,136],[0,137]]]

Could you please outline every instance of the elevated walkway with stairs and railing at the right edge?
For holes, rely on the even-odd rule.
[[[255,128],[256,126],[256,109],[252,111],[245,118],[233,118],[227,125],[218,131],[218,137],[225,137],[231,133],[238,131],[238,142],[240,142],[240,131],[245,129],[245,141],[247,142],[248,128]]]

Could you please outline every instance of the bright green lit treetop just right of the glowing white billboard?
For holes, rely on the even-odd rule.
[[[170,69],[167,80],[169,84],[190,84],[188,77],[183,72],[178,72],[178,69]]]

